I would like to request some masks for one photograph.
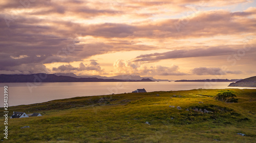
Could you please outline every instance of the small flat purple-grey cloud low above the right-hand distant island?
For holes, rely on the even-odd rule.
[[[194,68],[191,71],[193,74],[196,74],[196,75],[226,75],[227,73],[242,74],[241,71],[224,71],[221,68],[206,68],[206,67]]]

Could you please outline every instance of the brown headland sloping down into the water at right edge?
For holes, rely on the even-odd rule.
[[[256,76],[245,78],[237,82],[232,82],[228,87],[256,87]]]

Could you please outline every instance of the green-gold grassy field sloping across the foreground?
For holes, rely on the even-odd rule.
[[[238,103],[213,98],[224,91],[235,94]],[[256,90],[239,89],[76,97],[9,107],[10,112],[39,112],[42,117],[9,119],[8,139],[0,108],[0,138],[1,142],[59,143],[255,142],[255,107]],[[204,109],[209,112],[197,111]],[[24,126],[30,128],[21,129]]]

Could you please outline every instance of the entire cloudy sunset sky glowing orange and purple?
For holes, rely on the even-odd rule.
[[[0,74],[256,75],[251,0],[0,1]]]

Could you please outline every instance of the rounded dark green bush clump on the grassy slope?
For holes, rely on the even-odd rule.
[[[234,103],[238,102],[238,99],[235,99],[234,97],[237,97],[237,96],[232,94],[231,92],[222,92],[222,93],[218,93],[218,95],[215,96],[215,99],[222,102],[234,102]]]

